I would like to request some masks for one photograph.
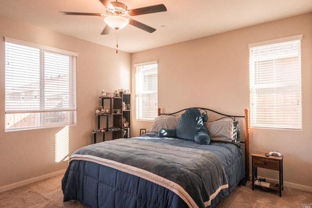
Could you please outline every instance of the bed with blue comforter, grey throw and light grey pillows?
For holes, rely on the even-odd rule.
[[[195,108],[209,118],[203,122],[215,135],[209,145],[160,136],[160,129],[175,129],[188,109],[159,108],[151,132],[75,151],[62,179],[63,201],[93,208],[214,208],[249,179],[248,109],[232,116]],[[220,127],[225,124],[232,129],[229,138],[228,126]]]

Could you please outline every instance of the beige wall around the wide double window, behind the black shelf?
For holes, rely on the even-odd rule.
[[[69,153],[93,143],[100,90],[114,92],[130,81],[131,54],[0,17],[0,36],[78,53],[77,125],[69,127]],[[4,132],[4,41],[0,40],[0,191],[61,173],[55,135],[62,128]],[[15,184],[17,183],[17,184]]]

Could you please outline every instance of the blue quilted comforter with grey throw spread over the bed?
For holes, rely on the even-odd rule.
[[[115,142],[116,141],[116,142]],[[117,140],[112,141],[112,144],[117,143]],[[121,142],[122,140],[119,140]],[[124,169],[118,169],[120,165],[112,166],[111,163],[103,163],[103,160],[109,160],[109,161],[116,161],[120,164],[129,165],[131,167],[139,167],[142,168],[142,165],[140,165],[140,160],[135,159],[133,157],[136,154],[123,154],[123,148],[120,147],[120,151],[115,149],[112,149],[112,146],[109,142],[100,143],[96,145],[91,145],[87,147],[83,147],[77,152],[75,152],[72,155],[72,160],[69,164],[69,167],[64,175],[64,178],[62,180],[62,189],[64,193],[64,201],[68,201],[71,199],[79,200],[80,202],[87,204],[91,207],[214,207],[215,204],[225,198],[229,195],[230,192],[234,189],[234,187],[238,184],[238,182],[244,177],[244,165],[243,165],[243,159],[242,159],[242,152],[239,146],[234,144],[226,144],[226,143],[212,143],[211,145],[198,145],[194,141],[189,140],[182,140],[182,139],[176,139],[176,138],[158,138],[156,134],[149,133],[145,134],[140,137],[128,139],[126,141],[133,141],[131,143],[138,144],[152,144],[150,142],[156,143],[155,145],[151,145],[152,148],[160,148],[165,147],[164,152],[168,152],[168,148],[172,149],[172,152],[185,152],[185,155],[189,154],[187,157],[193,157],[192,155],[196,151],[198,153],[205,153],[207,150],[209,153],[207,155],[212,155],[212,157],[217,157],[214,160],[221,161],[221,169],[224,169],[223,171],[220,171],[221,173],[218,173],[220,175],[216,175],[216,181],[218,181],[218,178],[221,180],[222,175],[225,174],[225,181],[228,181],[228,188],[222,187],[225,185],[224,181],[220,181],[220,186],[222,187],[219,190],[215,190],[215,185],[208,187],[205,187],[207,185],[199,185],[199,187],[194,188],[194,184],[199,184],[202,182],[195,181],[194,178],[192,178],[191,183],[186,183],[183,181],[183,177],[185,179],[185,176],[183,177],[177,177],[180,181],[175,181],[175,179],[170,178],[170,181],[174,183],[176,186],[181,184],[184,190],[186,190],[187,193],[190,193],[192,197],[194,197],[194,200],[196,204],[190,204],[187,199],[185,199],[185,196],[183,194],[180,194],[181,192],[176,191],[172,187],[166,187],[163,185],[159,185],[157,180],[153,181],[149,178],[144,178],[137,176],[136,174],[133,174],[134,172],[137,172],[135,170],[134,172],[128,172]],[[139,141],[139,143],[138,143]],[[145,143],[148,141],[147,143]],[[126,143],[126,142],[125,142]],[[130,146],[130,144],[125,144],[124,146]],[[106,146],[106,150],[104,152],[107,152],[108,154],[102,155],[103,151],[97,151],[94,150],[99,148],[101,149],[102,145],[106,144],[109,146]],[[118,144],[117,144],[118,146]],[[119,143],[119,146],[123,146]],[[148,145],[149,146],[149,145]],[[171,147],[170,147],[171,146]],[[107,149],[108,147],[108,149]],[[187,147],[187,148],[185,148]],[[91,148],[91,150],[90,150]],[[133,147],[131,147],[133,148]],[[136,148],[136,147],[135,147]],[[197,149],[197,150],[196,150]],[[187,151],[187,150],[190,150]],[[125,150],[125,151],[135,151],[135,150]],[[149,150],[148,150],[149,151]],[[158,150],[157,150],[158,151]],[[92,153],[92,157],[89,156],[83,156],[83,155],[90,155]],[[152,152],[152,151],[151,151]],[[170,152],[170,150],[169,150]],[[122,154],[121,154],[122,153]],[[141,155],[143,152],[139,151],[137,153],[138,155]],[[79,155],[79,156],[78,156]],[[87,158],[86,160],[81,159],[80,155],[82,155],[82,158]],[[115,155],[115,156],[113,156]],[[122,157],[122,155],[124,155]],[[175,154],[176,155],[176,154]],[[115,159],[113,159],[113,157]],[[135,156],[137,158],[137,156]],[[147,165],[148,163],[144,163],[143,166],[147,166],[148,172],[154,172],[156,167],[161,169],[160,173],[155,173],[156,176],[164,176],[162,175],[163,172],[170,172],[164,170],[165,167],[159,166],[161,165],[161,162],[158,161],[161,157],[167,157],[167,156],[158,156],[154,153],[149,155],[143,156],[145,159],[148,157],[152,157],[151,164],[156,164],[155,166]],[[171,166],[174,164],[176,165],[177,162],[180,162],[178,158],[181,157],[180,153],[177,156],[177,159],[174,160],[165,160],[164,164],[170,164]],[[91,158],[91,159],[90,159]],[[96,158],[96,160],[95,160]],[[98,158],[102,158],[99,159]],[[157,160],[155,160],[157,158]],[[164,158],[162,158],[164,159]],[[196,159],[197,156],[196,156]],[[157,162],[158,161],[158,162]],[[169,161],[169,162],[168,162]],[[192,164],[192,162],[187,162]],[[104,166],[103,166],[104,165]],[[116,164],[115,164],[116,165]],[[123,166],[123,165],[122,165]],[[181,165],[180,165],[181,166]],[[167,167],[166,167],[167,168]],[[169,166],[170,168],[170,166]],[[186,169],[181,168],[180,173],[188,171]],[[144,168],[142,168],[144,169]],[[145,168],[146,169],[146,168]],[[193,168],[194,169],[194,168]],[[195,168],[196,169],[196,168]],[[209,169],[209,168],[208,168]],[[211,167],[211,169],[213,169]],[[200,168],[198,169],[203,172]],[[218,170],[219,171],[219,170]],[[174,171],[172,171],[174,172]],[[196,174],[198,174],[198,172]],[[205,175],[205,173],[204,173]],[[207,173],[206,173],[207,175]],[[188,177],[186,177],[188,178]],[[196,178],[196,177],[195,177]],[[203,176],[199,177],[204,178]],[[210,177],[209,180],[211,180]],[[215,181],[215,180],[213,180]],[[185,183],[184,183],[185,182]],[[205,182],[206,183],[206,182]],[[210,181],[209,183],[214,184],[215,182]],[[170,182],[169,182],[170,184]],[[189,185],[188,185],[189,184]],[[190,187],[189,187],[190,186]],[[197,186],[197,185],[196,185]],[[204,187],[204,188],[203,188]],[[211,192],[207,192],[207,189],[211,188]],[[204,190],[203,190],[204,189]],[[194,194],[192,192],[195,192],[197,194]],[[198,194],[198,192],[200,194]],[[219,193],[220,192],[220,193]],[[153,194],[152,194],[153,193]],[[155,194],[154,194],[155,193]],[[183,191],[182,191],[183,193]],[[218,194],[219,193],[219,194]],[[213,200],[210,201],[211,194],[213,194]],[[187,194],[186,194],[187,195]],[[200,195],[200,198],[204,196],[204,199],[202,199],[202,202],[198,202],[198,197],[196,196]],[[209,203],[207,203],[209,202]]]

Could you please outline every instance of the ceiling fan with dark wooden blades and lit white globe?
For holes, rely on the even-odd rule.
[[[109,2],[109,0],[99,0],[105,7],[107,14],[101,13],[83,13],[83,12],[59,12],[64,15],[86,15],[86,16],[99,16],[105,17],[105,23],[115,30],[122,29],[127,24],[131,24],[139,29],[142,29],[146,32],[153,33],[156,31],[155,28],[150,27],[146,24],[143,24],[139,21],[133,20],[130,17],[137,16],[137,15],[144,15],[156,12],[164,12],[167,11],[167,8],[164,4],[158,4],[154,6],[147,6],[137,9],[130,9],[128,10],[127,5],[124,3],[113,1]],[[106,35],[109,33],[109,28],[107,26],[104,27],[102,35]]]

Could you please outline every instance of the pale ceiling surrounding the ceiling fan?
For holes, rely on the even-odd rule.
[[[113,1],[113,0],[112,0]],[[312,0],[119,0],[128,9],[163,3],[166,12],[134,16],[156,31],[132,25],[118,31],[118,49],[134,53],[312,12]],[[99,0],[0,0],[0,16],[115,48],[116,31],[100,35],[104,17],[59,11],[105,13]]]

